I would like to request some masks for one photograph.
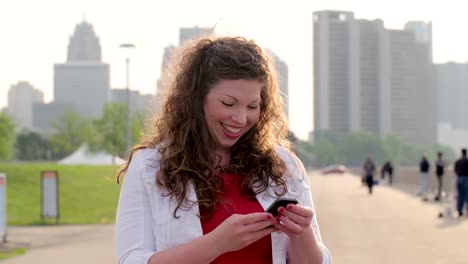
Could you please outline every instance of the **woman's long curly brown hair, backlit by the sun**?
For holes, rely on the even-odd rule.
[[[222,179],[216,176],[219,172],[242,175],[242,190],[250,196],[265,191],[271,184],[281,187],[278,195],[284,194],[287,186],[282,175],[286,165],[275,148],[290,149],[290,143],[279,82],[269,54],[243,37],[205,37],[187,43],[175,65],[175,77],[168,87],[162,113],[153,122],[147,139],[133,147],[117,180],[137,150],[157,148],[161,158],[155,184],[167,190],[165,195],[177,199],[174,217],[177,210],[186,210],[195,202],[188,199],[191,183],[200,211],[211,215],[220,202]],[[233,145],[230,164],[220,167],[216,165],[219,157],[213,151],[215,141],[207,129],[203,103],[217,82],[237,79],[264,84],[260,117]]]

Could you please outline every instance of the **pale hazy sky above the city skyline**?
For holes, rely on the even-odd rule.
[[[434,62],[468,61],[468,16],[463,1],[445,0],[11,0],[0,2],[0,108],[12,84],[28,81],[53,96],[53,64],[66,60],[76,24],[91,23],[111,87],[125,86],[121,43],[134,43],[130,87],[156,92],[164,47],[176,45],[180,27],[213,27],[255,39],[289,66],[290,127],[301,138],[312,129],[312,12],[353,11],[358,19],[401,29],[410,20],[433,23]],[[85,98],[83,98],[85,100]],[[79,100],[79,99],[78,99]]]

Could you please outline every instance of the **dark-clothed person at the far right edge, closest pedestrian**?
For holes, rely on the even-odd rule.
[[[462,156],[455,162],[455,173],[457,174],[457,210],[458,215],[463,216],[463,206],[466,205],[468,212],[468,159],[466,148],[462,149]]]

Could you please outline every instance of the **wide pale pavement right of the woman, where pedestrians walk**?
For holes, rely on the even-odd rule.
[[[468,217],[438,218],[440,205],[386,185],[369,195],[349,174],[312,173],[310,184],[334,263],[468,263]]]

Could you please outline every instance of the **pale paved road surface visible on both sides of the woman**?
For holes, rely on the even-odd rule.
[[[440,205],[385,185],[369,195],[347,174],[312,174],[311,186],[336,264],[468,263],[468,217],[438,218]],[[5,264],[115,263],[112,225],[10,227],[9,239],[30,249]]]

